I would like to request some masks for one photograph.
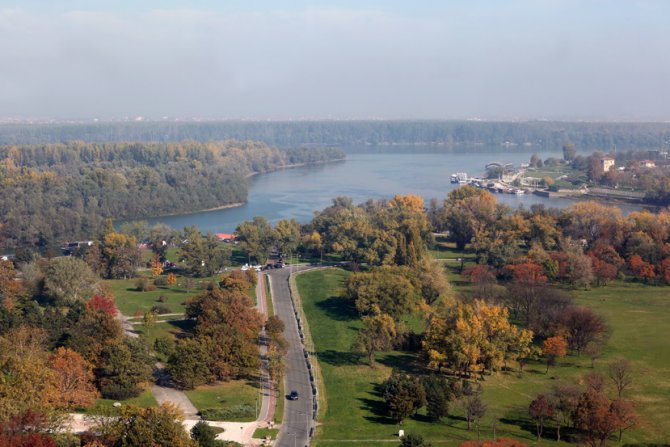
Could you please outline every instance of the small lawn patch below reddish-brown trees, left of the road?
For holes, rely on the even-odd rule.
[[[226,409],[238,405],[250,405],[260,409],[260,392],[258,383],[251,380],[231,380],[218,385],[202,385],[194,390],[185,391],[193,405],[199,410]],[[255,421],[256,416],[247,418],[232,418],[234,422]]]

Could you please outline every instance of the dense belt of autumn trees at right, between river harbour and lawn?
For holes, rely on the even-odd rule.
[[[530,259],[549,281],[575,287],[624,275],[670,284],[670,212],[665,210],[624,217],[618,208],[595,202],[564,210],[543,205],[511,210],[489,192],[465,186],[452,191],[442,206],[433,202],[428,215],[433,228],[446,232],[459,248],[469,245],[479,264],[499,274]],[[508,269],[507,276],[511,273]]]

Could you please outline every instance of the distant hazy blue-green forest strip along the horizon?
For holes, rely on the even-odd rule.
[[[566,123],[549,121],[305,121],[305,122],[144,122],[96,124],[4,124],[1,144],[91,142],[258,140],[291,147],[309,145],[437,144],[477,145],[509,151],[525,143],[543,150],[571,141],[584,150],[667,147],[667,123]],[[509,144],[505,144],[509,142]],[[525,148],[525,147],[524,147]]]

